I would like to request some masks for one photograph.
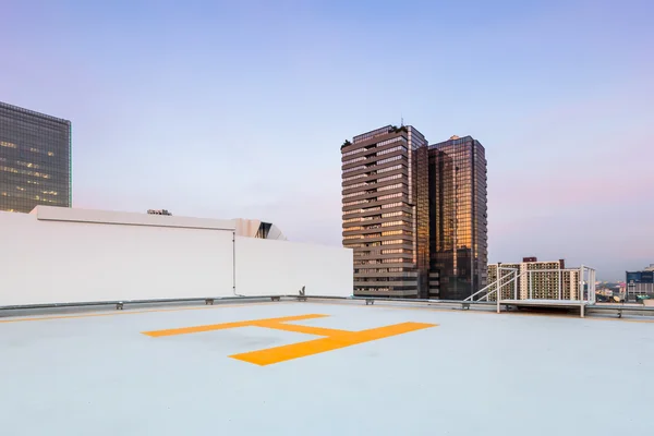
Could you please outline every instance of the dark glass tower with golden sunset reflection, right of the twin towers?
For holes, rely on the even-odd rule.
[[[462,300],[486,286],[486,158],[471,136],[429,145],[431,296]]]

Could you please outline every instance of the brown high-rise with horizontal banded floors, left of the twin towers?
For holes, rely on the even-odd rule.
[[[387,125],[341,146],[343,245],[354,250],[354,294],[428,294],[427,142]]]

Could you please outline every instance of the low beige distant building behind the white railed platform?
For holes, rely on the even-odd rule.
[[[501,299],[513,299],[513,278],[512,270],[517,270],[518,278],[518,299],[538,299],[538,300],[579,300],[579,268],[566,268],[564,259],[552,262],[538,262],[536,257],[525,257],[529,262],[519,264],[489,264],[488,283],[496,282],[499,278],[501,287]],[[500,269],[500,268],[511,268]],[[509,283],[510,282],[510,283]],[[494,286],[489,291],[495,290]],[[495,300],[495,294],[491,296]]]

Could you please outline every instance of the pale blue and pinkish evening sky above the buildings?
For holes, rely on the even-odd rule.
[[[343,140],[488,159],[489,259],[654,263],[651,1],[0,0],[0,100],[73,122],[74,206],[339,245]]]

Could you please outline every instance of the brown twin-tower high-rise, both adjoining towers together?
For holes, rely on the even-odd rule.
[[[343,245],[354,294],[462,300],[486,284],[486,158],[470,136],[427,145],[412,126],[341,146]]]

